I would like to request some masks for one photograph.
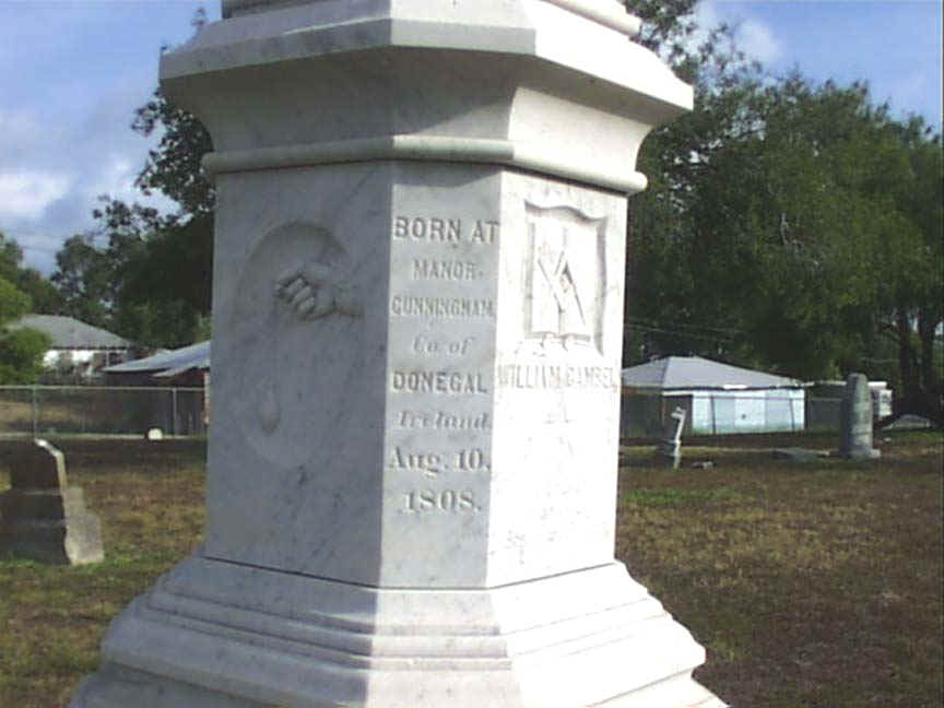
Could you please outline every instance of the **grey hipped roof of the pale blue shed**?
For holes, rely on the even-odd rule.
[[[623,369],[623,386],[658,389],[796,388],[800,381],[700,356],[666,356]]]

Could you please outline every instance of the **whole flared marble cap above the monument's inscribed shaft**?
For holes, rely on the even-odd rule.
[[[494,164],[497,143],[511,166],[621,191],[645,187],[646,133],[693,101],[623,31],[544,0],[294,3],[204,27],[162,82],[210,129],[216,169],[376,160],[381,139],[426,139],[393,156],[439,161],[448,140],[452,160]]]

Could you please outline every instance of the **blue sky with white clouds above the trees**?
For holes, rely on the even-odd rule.
[[[98,194],[144,201],[133,180],[153,141],[130,129],[157,82],[160,49],[219,0],[0,0],[0,231],[49,272],[88,229]],[[941,126],[941,0],[703,0],[774,73],[869,82],[898,115]],[[156,205],[173,204],[157,200]]]

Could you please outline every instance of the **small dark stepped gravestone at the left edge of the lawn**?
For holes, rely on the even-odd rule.
[[[98,518],[81,487],[67,484],[61,451],[46,440],[13,447],[10,483],[0,494],[0,555],[73,565],[105,558]]]

